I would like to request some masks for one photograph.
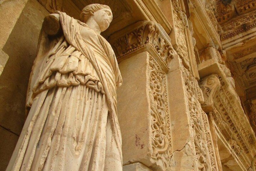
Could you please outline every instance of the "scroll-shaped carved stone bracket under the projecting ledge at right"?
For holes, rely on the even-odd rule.
[[[202,103],[202,109],[208,113],[214,110],[213,97],[217,90],[220,89],[220,81],[217,74],[211,74],[200,80],[199,84],[203,96],[204,103]]]

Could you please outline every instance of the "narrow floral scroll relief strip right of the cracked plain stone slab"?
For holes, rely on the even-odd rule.
[[[216,170],[215,154],[213,152],[212,138],[208,134],[208,119],[197,100],[199,85],[192,74],[182,67],[183,79],[186,87],[190,125],[193,134],[193,147],[195,148],[195,170]]]

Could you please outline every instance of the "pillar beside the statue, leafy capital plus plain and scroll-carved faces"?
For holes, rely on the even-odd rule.
[[[168,170],[172,135],[166,73],[176,52],[161,26],[151,21],[115,33],[110,43],[123,77],[117,109],[124,170]]]

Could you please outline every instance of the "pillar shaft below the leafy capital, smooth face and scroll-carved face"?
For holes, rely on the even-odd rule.
[[[166,73],[149,52],[121,61],[123,84],[117,90],[123,164],[140,162],[153,170],[169,169],[171,130]]]

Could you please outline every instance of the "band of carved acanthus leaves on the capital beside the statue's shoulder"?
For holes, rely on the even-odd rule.
[[[113,43],[117,59],[149,45],[158,54],[160,60],[169,68],[169,63],[176,53],[159,26],[152,21],[145,21],[139,28],[118,38]]]

